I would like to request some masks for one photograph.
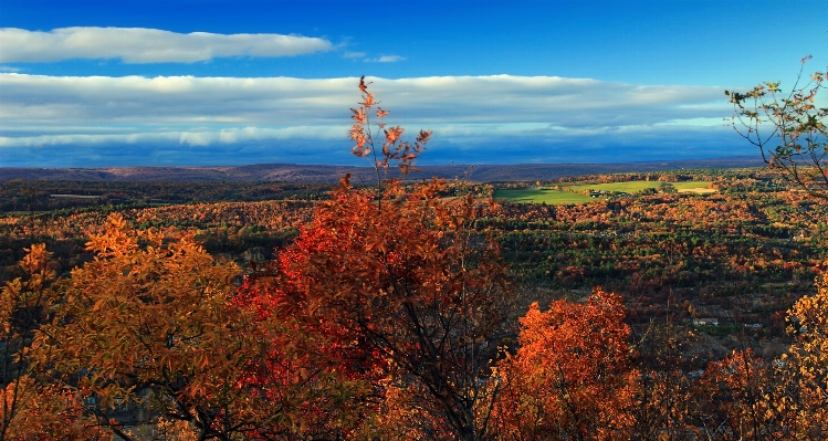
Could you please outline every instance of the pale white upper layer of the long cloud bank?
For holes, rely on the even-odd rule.
[[[732,111],[717,87],[524,76],[368,78],[403,124],[650,125]],[[23,126],[298,126],[348,122],[358,78],[0,74],[0,130]]]

